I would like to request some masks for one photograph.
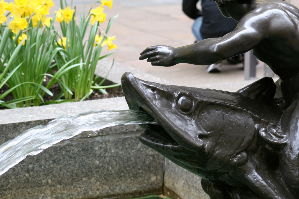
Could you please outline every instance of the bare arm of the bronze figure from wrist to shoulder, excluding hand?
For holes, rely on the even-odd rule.
[[[175,63],[213,64],[251,50],[264,35],[254,28],[239,27],[221,38],[209,38],[196,44],[176,48]]]

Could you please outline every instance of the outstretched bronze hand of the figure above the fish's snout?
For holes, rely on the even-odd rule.
[[[140,60],[147,59],[153,66],[173,66],[174,47],[170,46],[151,46],[140,53]]]

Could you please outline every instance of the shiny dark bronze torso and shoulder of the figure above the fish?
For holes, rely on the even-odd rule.
[[[254,54],[280,78],[291,78],[299,72],[299,10],[286,2],[275,1],[260,4],[253,13],[260,20],[271,18],[258,27],[265,36],[254,47]]]

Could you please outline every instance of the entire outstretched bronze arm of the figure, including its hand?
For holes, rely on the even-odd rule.
[[[152,46],[145,49],[140,60],[147,59],[153,66],[173,66],[179,63],[208,65],[239,55],[254,48],[266,35],[263,20],[259,16],[246,16],[237,28],[221,38],[208,38],[183,47]],[[263,27],[260,27],[263,24]]]

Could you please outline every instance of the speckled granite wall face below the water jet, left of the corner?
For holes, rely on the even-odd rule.
[[[136,127],[112,127],[110,136],[72,138],[28,156],[1,176],[0,198],[106,198],[161,193],[163,157],[139,142],[140,129]]]

